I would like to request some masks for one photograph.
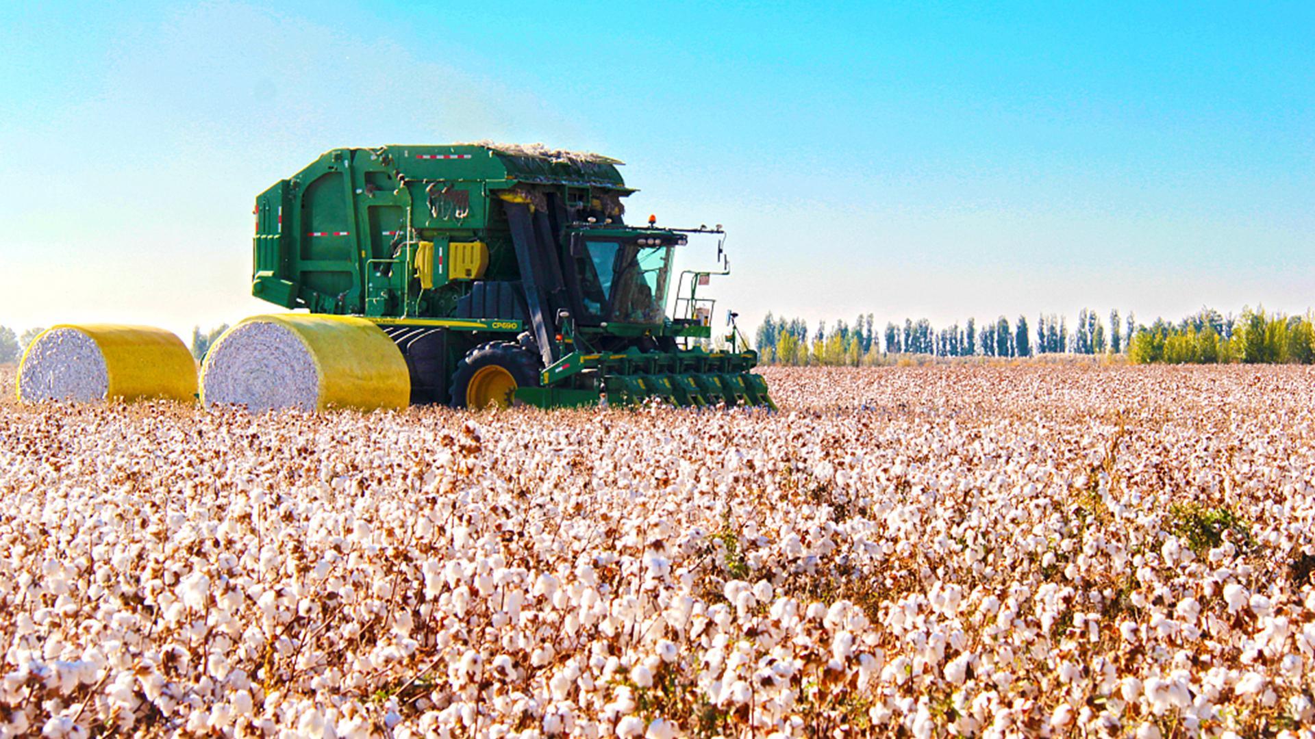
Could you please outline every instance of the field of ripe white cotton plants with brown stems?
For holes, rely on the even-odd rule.
[[[1315,736],[1315,372],[0,405],[0,734]]]

